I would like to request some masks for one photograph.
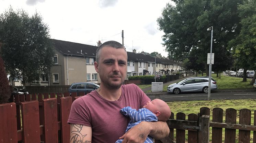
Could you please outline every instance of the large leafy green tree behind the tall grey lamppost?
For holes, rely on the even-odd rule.
[[[212,52],[227,51],[227,43],[239,32],[241,18],[237,4],[243,0],[173,0],[176,6],[167,4],[157,22],[163,35],[163,45],[173,59],[182,60],[190,51],[197,51],[198,60],[204,62],[208,71],[207,53],[210,53],[213,26]],[[215,54],[214,62],[223,61],[229,52]],[[230,65],[231,66],[231,65]],[[207,72],[207,75],[209,73]]]

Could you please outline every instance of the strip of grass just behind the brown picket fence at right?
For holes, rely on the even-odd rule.
[[[225,122],[225,110],[228,108],[233,108],[237,110],[236,122],[239,123],[239,110],[241,109],[249,109],[251,110],[251,125],[253,125],[254,121],[254,111],[256,110],[256,99],[241,99],[241,100],[211,100],[211,101],[173,101],[167,102],[170,106],[171,111],[174,113],[174,119],[176,119],[176,114],[178,112],[182,112],[186,114],[186,120],[188,118],[188,114],[194,113],[197,114],[200,112],[200,108],[208,107],[210,109],[210,121],[212,121],[212,109],[213,108],[221,108],[223,109],[223,122]],[[211,141],[211,131],[210,128],[210,141]],[[236,130],[236,142],[238,142],[238,132]],[[222,131],[222,142],[224,142],[225,129]],[[187,140],[188,131],[186,131],[186,140]],[[176,136],[176,132],[174,132],[174,137]],[[251,131],[251,142],[253,139],[253,131]]]

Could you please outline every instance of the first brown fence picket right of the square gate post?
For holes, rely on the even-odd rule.
[[[223,110],[221,108],[213,108],[212,121],[223,122]],[[222,143],[222,128],[212,127],[212,143]]]

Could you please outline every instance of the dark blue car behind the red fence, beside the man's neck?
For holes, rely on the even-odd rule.
[[[73,83],[69,87],[68,91],[71,92],[84,92],[84,94],[88,94],[93,90],[98,89],[100,86],[96,83],[92,82],[82,82],[82,83]]]

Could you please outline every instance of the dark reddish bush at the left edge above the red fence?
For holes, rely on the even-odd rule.
[[[2,57],[0,57],[0,104],[7,103],[11,96]]]

